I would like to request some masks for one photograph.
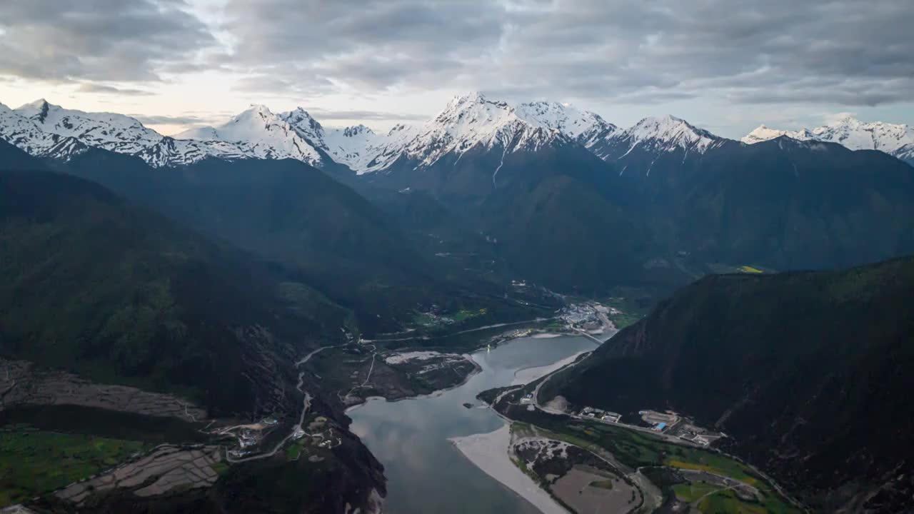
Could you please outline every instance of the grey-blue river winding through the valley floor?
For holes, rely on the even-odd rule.
[[[388,478],[385,512],[393,514],[532,513],[525,499],[466,459],[449,438],[491,433],[505,425],[480,404],[480,391],[509,385],[515,373],[553,364],[596,348],[586,337],[522,337],[473,359],[482,368],[462,386],[437,395],[387,402],[373,398],[350,410],[352,431],[384,465]],[[525,377],[529,373],[520,373]]]

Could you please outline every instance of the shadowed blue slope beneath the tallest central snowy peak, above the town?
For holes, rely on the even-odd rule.
[[[404,159],[367,180],[430,194],[461,212],[496,241],[512,278],[585,294],[685,283],[655,244],[633,189],[583,146],[554,141],[505,153],[477,145],[417,165]]]

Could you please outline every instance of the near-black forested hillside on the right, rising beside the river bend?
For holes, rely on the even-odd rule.
[[[914,258],[903,258],[707,276],[548,392],[619,412],[684,412],[814,506],[868,498],[878,510],[914,486],[912,370]]]

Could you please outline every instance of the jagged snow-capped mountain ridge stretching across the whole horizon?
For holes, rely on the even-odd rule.
[[[914,162],[914,128],[862,123],[852,117],[812,130],[761,125],[741,142],[755,144],[782,135],[880,150]],[[698,166],[689,161],[735,143],[671,115],[644,118],[622,129],[568,103],[513,104],[479,92],[455,96],[430,120],[399,124],[385,134],[365,125],[324,126],[301,107],[271,112],[264,105],[252,105],[226,123],[163,136],[130,116],[64,109],[38,100],[15,110],[0,104],[0,137],[30,155],[60,160],[94,146],[137,155],[154,167],[188,166],[210,157],[292,158],[323,169],[348,168],[359,175],[456,165],[472,150],[475,155],[498,154],[491,166],[494,176],[506,155],[574,144],[611,163],[622,175],[649,177],[652,171]],[[395,182],[401,185],[403,179]]]

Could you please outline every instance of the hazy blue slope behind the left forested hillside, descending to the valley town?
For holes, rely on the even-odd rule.
[[[419,304],[459,302],[473,284],[462,268],[444,267],[432,253],[420,252],[388,212],[298,161],[210,159],[152,169],[133,156],[90,150],[57,166],[292,265],[309,284],[350,306],[369,333],[396,328],[396,318]],[[483,293],[492,289],[476,286]]]

